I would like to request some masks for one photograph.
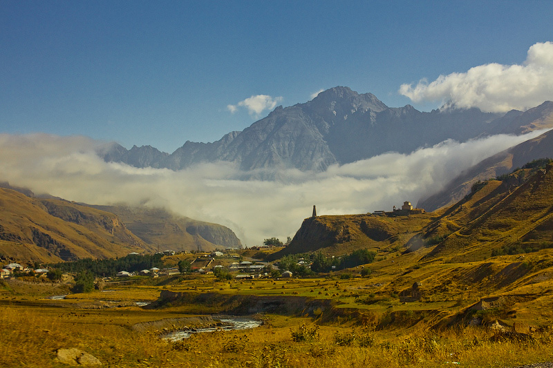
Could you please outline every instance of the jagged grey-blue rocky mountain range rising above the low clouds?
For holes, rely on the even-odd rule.
[[[446,139],[466,141],[553,127],[553,119],[543,115],[552,106],[548,102],[526,113],[505,115],[483,113],[478,108],[424,113],[410,105],[389,108],[371,93],[359,95],[348,87],[335,87],[304,104],[279,106],[243,131],[228,133],[216,142],[185,142],[170,155],[151,146],[133,146],[127,151],[113,144],[98,154],[108,162],[173,170],[223,161],[245,171],[275,167],[324,171],[332,164],[388,151],[409,153]]]

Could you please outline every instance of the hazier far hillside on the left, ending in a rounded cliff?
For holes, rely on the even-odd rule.
[[[115,213],[133,234],[160,251],[213,251],[242,246],[234,232],[223,225],[192,220],[164,209],[128,206],[93,208]]]

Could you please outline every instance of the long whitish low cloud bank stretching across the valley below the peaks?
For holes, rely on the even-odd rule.
[[[95,154],[104,142],[86,137],[3,134],[0,181],[76,202],[164,207],[228,226],[253,246],[293,236],[314,204],[319,215],[340,215],[416,203],[484,157],[538,134],[446,141],[409,155],[385,153],[331,166],[324,173],[279,171],[272,181],[251,179],[268,175],[245,173],[227,162],[182,171],[106,163]]]

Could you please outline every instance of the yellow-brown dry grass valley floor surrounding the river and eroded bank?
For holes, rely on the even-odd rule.
[[[500,272],[509,260],[488,263]],[[473,267],[476,274],[482,264],[464,267]],[[0,356],[6,367],[66,367],[56,360],[56,351],[68,348],[92,354],[104,367],[516,367],[553,360],[553,331],[547,328],[534,332],[529,340],[492,342],[496,332],[489,325],[440,324],[462,314],[483,295],[478,289],[466,290],[458,275],[470,271],[460,267],[435,263],[406,273],[397,256],[371,264],[373,272],[366,278],[359,277],[357,269],[348,270],[357,276],[350,278],[337,273],[326,278],[220,282],[203,275],[160,280],[158,285],[107,284],[104,291],[69,294],[64,300],[46,298],[64,291],[55,284],[3,282],[0,323],[6,339]],[[412,280],[423,280],[424,287],[435,292],[418,302],[400,302],[397,293]],[[553,317],[548,308],[550,281],[519,284],[518,289],[506,287],[497,289],[498,293],[525,291],[536,296],[494,311],[496,316],[485,311],[478,316],[485,321],[498,318],[511,325],[516,321],[547,327]],[[198,333],[169,342],[162,334],[178,329],[182,318],[219,310],[205,304],[156,309],[136,305],[156,300],[162,290],[303,296],[332,300],[334,307],[312,316],[263,313],[256,317],[265,323],[255,329]],[[461,296],[460,291],[465,293]],[[154,321],[161,322],[136,328]]]

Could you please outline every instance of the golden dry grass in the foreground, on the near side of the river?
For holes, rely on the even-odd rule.
[[[9,331],[0,345],[3,365],[66,367],[55,360],[55,351],[71,347],[93,354],[106,367],[515,367],[553,360],[550,332],[527,342],[491,342],[491,332],[480,328],[433,333],[417,325],[374,331],[265,316],[265,325],[256,329],[167,342],[160,331],[132,327],[182,317],[176,309],[91,310],[72,305],[2,304],[0,323]]]

